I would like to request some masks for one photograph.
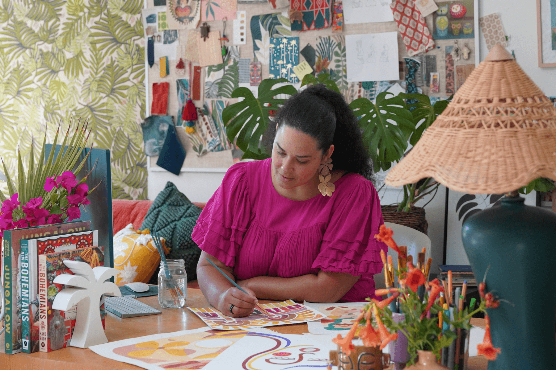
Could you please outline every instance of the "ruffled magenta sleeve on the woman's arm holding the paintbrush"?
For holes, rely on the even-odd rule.
[[[237,163],[207,202],[191,237],[201,250],[226,266],[234,266],[249,224],[251,205],[246,163]]]

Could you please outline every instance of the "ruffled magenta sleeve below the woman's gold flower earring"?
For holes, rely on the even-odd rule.
[[[374,235],[382,224],[378,194],[364,181],[341,199],[332,214],[312,268],[371,277],[381,272],[380,250],[388,252],[388,247]]]

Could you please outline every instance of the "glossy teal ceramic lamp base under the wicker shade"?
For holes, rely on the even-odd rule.
[[[510,301],[488,310],[492,342],[502,353],[489,370],[556,368],[556,214],[503,197],[469,217],[461,231],[477,282]]]

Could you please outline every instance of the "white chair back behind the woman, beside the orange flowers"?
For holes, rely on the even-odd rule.
[[[384,222],[384,225],[386,226],[386,228],[391,227],[392,231],[394,231],[394,241],[396,242],[396,244],[405,245],[408,247],[408,256],[413,256],[413,264],[415,266],[417,265],[417,254],[423,249],[423,247],[425,247],[426,263],[431,254],[431,243],[428,236],[418,230],[411,229],[411,227],[408,226],[393,224],[392,222]],[[393,249],[388,248],[388,256],[392,256],[394,268],[398,268],[398,253]],[[377,273],[374,276],[374,279],[376,289],[382,289],[386,287],[386,284],[384,282],[384,267],[383,271]],[[397,281],[395,275],[394,281]]]

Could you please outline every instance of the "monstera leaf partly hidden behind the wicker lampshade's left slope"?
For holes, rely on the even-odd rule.
[[[448,98],[448,100],[439,100],[438,102],[432,104],[430,102],[430,98],[427,95],[423,94],[405,94],[400,93],[398,95],[402,99],[416,99],[418,102],[414,104],[408,104],[407,108],[415,108],[411,111],[411,115],[413,115],[413,123],[415,124],[415,131],[411,134],[411,138],[409,139],[409,144],[415,145],[417,141],[423,135],[423,132],[435,121],[436,117],[446,109],[448,103],[451,102],[451,99],[454,95]]]

